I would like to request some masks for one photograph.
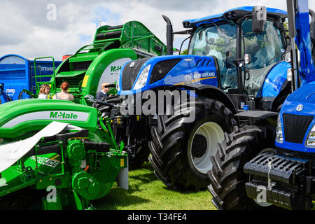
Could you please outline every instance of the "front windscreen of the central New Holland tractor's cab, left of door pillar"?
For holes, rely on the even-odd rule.
[[[234,23],[217,22],[199,27],[193,34],[188,53],[190,55],[215,56],[218,59],[223,90],[237,89],[236,58],[237,26]]]

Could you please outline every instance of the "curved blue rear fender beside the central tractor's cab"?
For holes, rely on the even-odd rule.
[[[287,71],[290,67],[291,65],[287,62],[276,64],[265,78],[260,97],[277,97],[281,92],[281,87],[286,82]]]

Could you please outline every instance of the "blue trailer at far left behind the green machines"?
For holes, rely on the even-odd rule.
[[[55,61],[55,67],[61,62]],[[52,74],[52,61],[36,61],[37,75]],[[50,81],[50,78],[42,78],[42,81]],[[23,89],[36,93],[34,78],[34,61],[20,55],[5,55],[0,58],[0,83],[4,84],[4,92],[13,100],[17,100]],[[26,96],[28,97],[28,96]],[[1,102],[5,102],[0,97]]]

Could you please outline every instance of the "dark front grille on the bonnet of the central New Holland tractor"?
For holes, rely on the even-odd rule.
[[[151,59],[151,57],[146,57],[126,64],[123,75],[121,77],[122,90],[131,90],[132,85],[134,85],[134,81],[136,80],[142,65],[146,63],[148,59]],[[134,63],[134,66],[130,68],[130,64],[132,63]]]

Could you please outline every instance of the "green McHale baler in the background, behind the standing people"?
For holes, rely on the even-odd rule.
[[[69,92],[79,102],[87,94],[95,96],[102,90],[102,83],[117,83],[123,64],[135,59],[166,55],[167,47],[141,22],[131,21],[120,26],[99,27],[90,45],[80,48],[60,64],[50,76],[51,92],[60,92],[60,85],[67,81]],[[49,58],[49,57],[47,57]],[[45,59],[45,57],[34,60]],[[36,76],[37,93],[47,76]],[[112,93],[116,93],[113,90]],[[85,103],[83,100],[81,103]]]

